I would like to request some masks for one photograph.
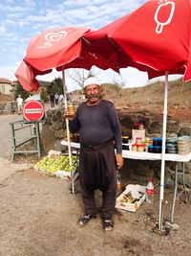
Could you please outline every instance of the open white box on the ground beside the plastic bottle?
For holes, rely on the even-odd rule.
[[[125,200],[126,195],[137,196],[133,202]],[[139,197],[139,198],[138,198]],[[136,212],[140,204],[146,198],[146,186],[127,185],[125,190],[117,198],[116,208],[124,211]]]

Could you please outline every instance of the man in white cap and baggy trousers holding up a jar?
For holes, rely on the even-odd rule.
[[[123,165],[120,125],[114,105],[101,99],[101,87],[95,78],[84,82],[85,103],[68,117],[72,133],[79,132],[79,180],[85,215],[84,226],[96,218],[95,190],[102,192],[101,214],[104,231],[112,230],[117,198],[117,169]],[[117,153],[115,153],[115,145]]]

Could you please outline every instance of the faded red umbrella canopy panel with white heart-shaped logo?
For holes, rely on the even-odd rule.
[[[37,70],[47,70],[77,58],[81,51],[81,36],[87,28],[53,28],[32,38],[25,60]]]

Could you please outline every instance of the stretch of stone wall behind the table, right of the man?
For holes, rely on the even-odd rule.
[[[146,137],[161,137],[162,115],[154,115],[151,112],[118,112],[122,132],[129,137],[132,135],[132,128],[135,123],[143,123]],[[167,117],[167,136],[170,134],[191,135],[191,125],[188,122],[179,122],[170,116]],[[160,177],[160,161],[125,160],[125,168],[128,168],[130,176],[145,175]],[[179,168],[181,165],[179,164]],[[165,162],[165,182],[174,180],[175,163]],[[179,182],[182,184],[182,175],[179,175]],[[185,182],[191,187],[191,163],[185,163]]]

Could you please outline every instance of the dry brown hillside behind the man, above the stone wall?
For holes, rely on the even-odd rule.
[[[111,100],[117,109],[124,112],[152,112],[162,114],[164,82],[158,81],[143,87],[122,88],[104,83],[103,97]],[[74,91],[74,101],[80,102],[81,90]],[[168,115],[183,120],[191,120],[191,81],[169,81]]]

